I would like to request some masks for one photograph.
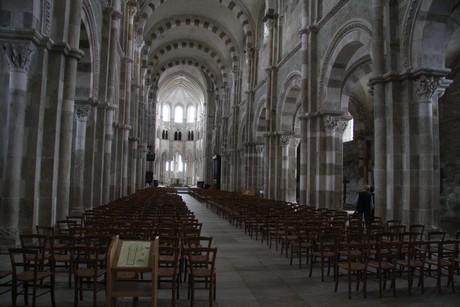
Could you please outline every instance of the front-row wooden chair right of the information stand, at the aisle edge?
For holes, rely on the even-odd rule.
[[[189,248],[188,255],[190,265],[188,269],[187,297],[190,298],[190,306],[194,306],[195,290],[197,289],[207,289],[209,291],[209,306],[212,306],[213,300],[216,299],[217,288],[215,267],[217,248]]]

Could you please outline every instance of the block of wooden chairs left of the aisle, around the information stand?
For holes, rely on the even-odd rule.
[[[69,288],[75,288],[75,306],[83,298],[83,290],[88,289],[85,284],[88,281],[93,292],[93,304],[96,305],[97,292],[105,288],[107,249],[114,235],[126,240],[150,240],[160,235],[158,280],[160,287],[166,283],[171,285],[171,304],[177,304],[181,281],[187,281],[192,305],[194,290],[200,285],[208,289],[211,304],[216,298],[217,248],[211,244],[212,237],[201,236],[202,224],[188,210],[182,198],[172,192],[141,190],[87,210],[81,216],[67,216],[57,221],[54,227],[37,225],[34,234],[22,234],[21,247],[10,249],[9,253],[11,257],[22,254],[27,260],[25,265],[28,266],[22,270],[27,273],[23,275],[36,276],[27,280],[30,287],[23,288],[31,289],[33,306],[39,290],[45,286],[44,290],[51,293],[50,304],[55,306],[55,277],[61,273],[67,274]],[[28,269],[32,268],[35,257],[37,272],[40,273],[34,275]],[[14,259],[11,261],[15,265]],[[90,270],[88,265],[91,261],[94,265]],[[85,262],[84,270],[81,262]],[[17,296],[23,293],[19,291],[21,285],[26,285],[21,274],[16,270],[5,272],[4,277],[12,276],[7,286],[12,290],[13,306]],[[3,278],[3,273],[0,277]],[[117,278],[145,279],[149,276],[120,274]],[[26,294],[24,299],[27,303],[29,293]]]

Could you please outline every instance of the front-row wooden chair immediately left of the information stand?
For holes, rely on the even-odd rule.
[[[73,247],[73,275],[75,280],[74,306],[83,300],[84,284],[92,286],[93,306],[97,306],[97,292],[105,289],[106,268],[100,266],[100,254],[107,252],[97,246],[75,245]]]

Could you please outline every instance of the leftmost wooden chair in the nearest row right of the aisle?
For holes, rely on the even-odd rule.
[[[338,262],[335,272],[335,292],[339,285],[340,271],[345,270],[348,277],[348,298],[351,299],[351,278],[356,275],[356,291],[359,289],[360,281],[363,282],[364,297],[367,297],[367,266],[369,259],[369,244],[347,243],[344,246],[346,260]]]

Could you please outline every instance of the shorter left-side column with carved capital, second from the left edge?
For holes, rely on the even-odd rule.
[[[91,110],[89,104],[76,104],[76,127],[75,127],[75,147],[74,147],[74,184],[73,202],[70,207],[72,215],[82,214],[84,211],[84,182],[85,182],[85,150],[86,150],[86,123]]]

